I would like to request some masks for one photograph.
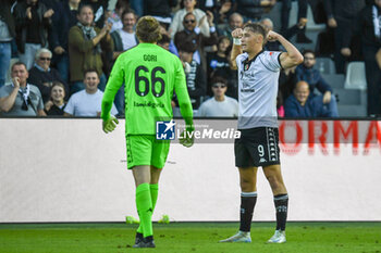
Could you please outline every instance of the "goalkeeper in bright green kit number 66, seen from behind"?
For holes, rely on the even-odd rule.
[[[122,53],[110,74],[103,99],[101,118],[103,131],[112,131],[118,119],[110,115],[114,97],[125,84],[125,136],[127,167],[136,185],[136,208],[140,218],[134,248],[155,248],[152,212],[158,198],[158,181],[170,148],[170,140],[156,139],[158,121],[172,118],[171,101],[175,92],[186,123],[186,137],[193,127],[193,111],[180,59],[157,46],[160,26],[151,16],[136,25],[139,45]],[[161,119],[160,119],[161,118]],[[171,121],[167,127],[172,127]],[[185,147],[192,138],[183,138]]]

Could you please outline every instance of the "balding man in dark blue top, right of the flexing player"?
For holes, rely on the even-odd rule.
[[[294,94],[291,94],[284,105],[286,117],[333,117],[322,103],[321,96],[309,96],[309,85],[300,80],[296,84]]]

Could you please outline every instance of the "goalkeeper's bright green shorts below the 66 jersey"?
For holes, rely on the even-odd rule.
[[[168,152],[170,151],[169,140],[157,140],[156,136],[126,136],[127,168],[134,166],[152,165],[163,168]]]

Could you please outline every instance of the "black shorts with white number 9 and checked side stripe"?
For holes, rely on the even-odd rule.
[[[241,138],[235,139],[235,166],[259,167],[281,164],[279,131],[274,127],[241,129]]]

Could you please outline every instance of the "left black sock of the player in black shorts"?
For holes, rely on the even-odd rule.
[[[257,202],[257,192],[242,192],[241,193],[241,216],[239,216],[239,231],[248,232],[251,227],[254,206]]]

